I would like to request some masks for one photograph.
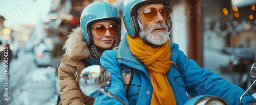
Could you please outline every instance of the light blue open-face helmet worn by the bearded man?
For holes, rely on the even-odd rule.
[[[129,33],[130,37],[136,37],[138,36],[138,33],[140,31],[140,27],[138,24],[138,9],[142,5],[145,4],[151,4],[151,3],[163,3],[164,6],[171,6],[170,0],[124,0],[123,2],[123,8],[122,8],[122,15],[123,15],[123,21],[126,27],[127,32]],[[167,18],[170,22],[172,21],[172,16],[169,16]],[[167,23],[166,19],[166,23]],[[172,24],[172,23],[170,23]],[[172,25],[169,25],[168,31],[170,31],[170,28]]]

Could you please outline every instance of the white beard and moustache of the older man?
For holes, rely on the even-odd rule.
[[[152,33],[154,29],[164,27],[165,31],[160,31],[156,33]],[[163,45],[168,41],[169,34],[167,32],[167,26],[165,24],[156,24],[153,25],[149,30],[146,27],[141,28],[139,37],[143,40],[146,39],[148,42],[154,44],[154,45]]]

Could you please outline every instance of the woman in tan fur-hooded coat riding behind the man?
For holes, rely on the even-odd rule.
[[[107,2],[93,2],[84,8],[80,24],[63,46],[65,54],[58,68],[58,104],[93,104],[94,98],[84,95],[79,88],[81,71],[87,66],[99,65],[103,51],[120,43],[120,15]]]

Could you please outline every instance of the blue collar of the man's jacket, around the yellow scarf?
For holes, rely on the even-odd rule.
[[[127,35],[127,34],[126,34]],[[119,63],[123,63],[127,66],[142,70],[144,69],[144,64],[137,59],[132,52],[130,51],[129,45],[127,43],[127,38],[126,35],[124,35],[122,41],[120,42],[117,50],[117,59]],[[173,42],[170,42],[170,47],[171,47],[171,53],[170,57],[173,61],[176,60],[177,58],[177,52],[178,52],[178,44],[175,44]]]

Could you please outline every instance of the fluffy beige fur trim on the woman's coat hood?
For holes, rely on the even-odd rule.
[[[90,56],[90,50],[84,41],[81,27],[73,29],[73,31],[67,36],[63,50],[65,54],[62,60],[82,60],[83,58],[88,58]]]

